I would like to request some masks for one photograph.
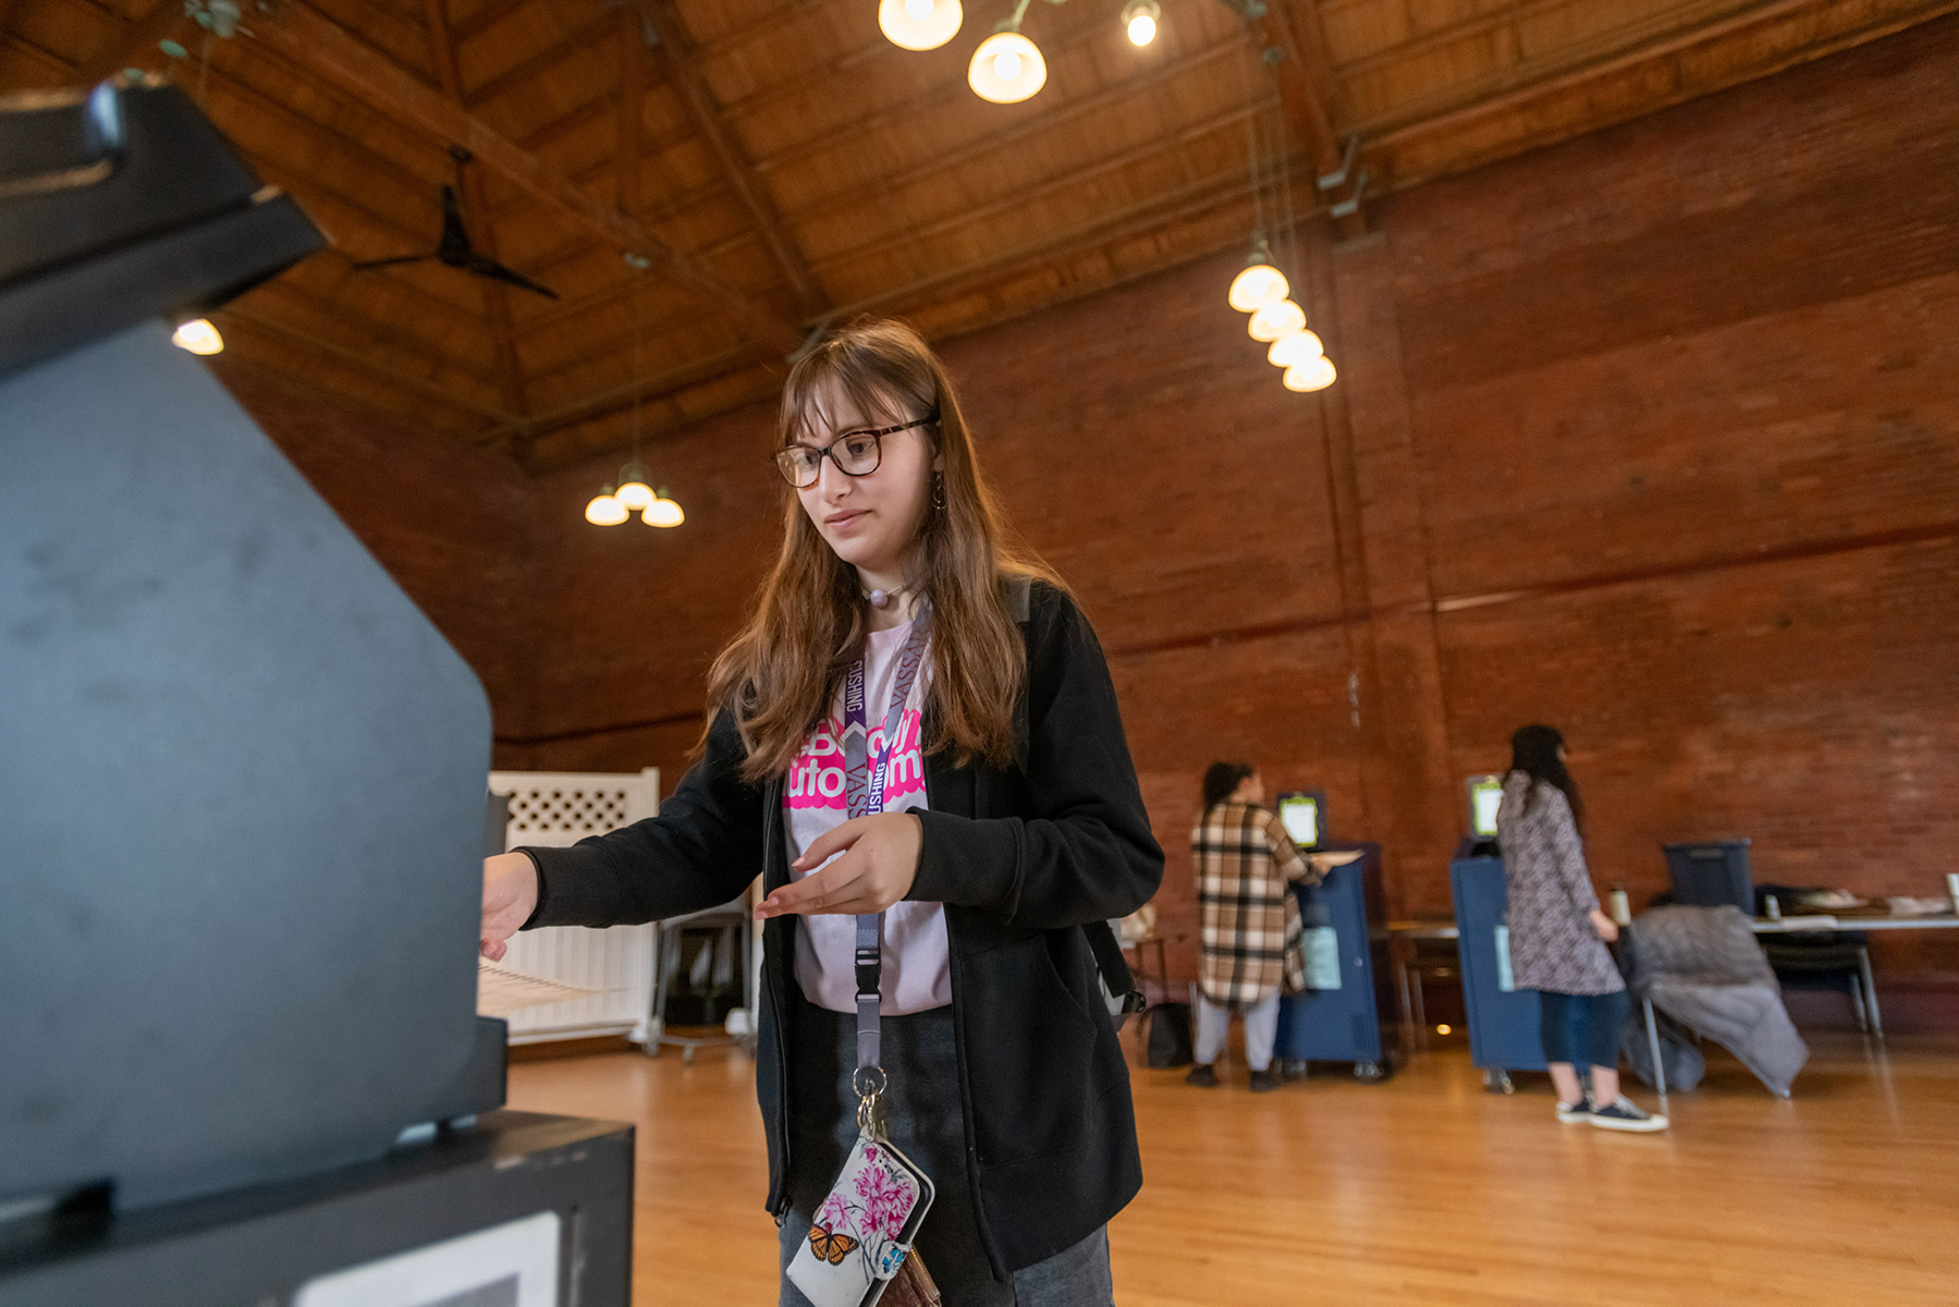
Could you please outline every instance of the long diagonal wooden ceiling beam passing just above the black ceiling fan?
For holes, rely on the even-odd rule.
[[[621,251],[635,253],[684,286],[705,308],[727,314],[760,341],[789,353],[803,333],[762,300],[672,251],[637,219],[572,184],[543,159],[492,131],[458,104],[380,55],[317,12],[286,0],[253,20],[253,37],[317,76],[441,139],[468,147],[517,188]]]

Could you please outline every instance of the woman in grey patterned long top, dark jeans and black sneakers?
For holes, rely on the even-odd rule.
[[[1510,774],[1497,807],[1497,845],[1508,890],[1510,974],[1538,992],[1538,1035],[1557,1088],[1557,1119],[1608,1131],[1663,1131],[1618,1091],[1618,1041],[1632,999],[1606,943],[1618,925],[1599,909],[1579,821],[1585,805],[1565,770],[1565,737],[1522,727],[1510,737]],[[1591,1066],[1591,1093],[1579,1066]]]

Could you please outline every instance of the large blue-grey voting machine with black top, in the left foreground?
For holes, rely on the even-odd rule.
[[[482,686],[170,345],[319,245],[168,86],[0,110],[0,1205],[502,1101]]]

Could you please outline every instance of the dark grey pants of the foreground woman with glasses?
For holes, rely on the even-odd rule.
[[[789,1217],[782,1223],[782,1270],[809,1238],[809,1217],[823,1203],[856,1142],[856,1019],[793,993],[789,1021]],[[952,1009],[884,1019],[885,1135],[932,1178],[932,1207],[919,1227],[919,1256],[946,1307],[1113,1307],[1109,1233],[1095,1231],[1074,1248],[993,1280],[980,1219],[966,1187],[966,1125],[960,1111],[958,1050]],[[782,1278],[780,1307],[809,1307]]]

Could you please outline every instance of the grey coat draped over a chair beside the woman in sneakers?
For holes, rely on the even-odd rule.
[[[1651,999],[1728,1048],[1769,1089],[1789,1095],[1810,1048],[1783,1007],[1783,988],[1742,909],[1653,907],[1632,923],[1628,952],[1634,997]]]

